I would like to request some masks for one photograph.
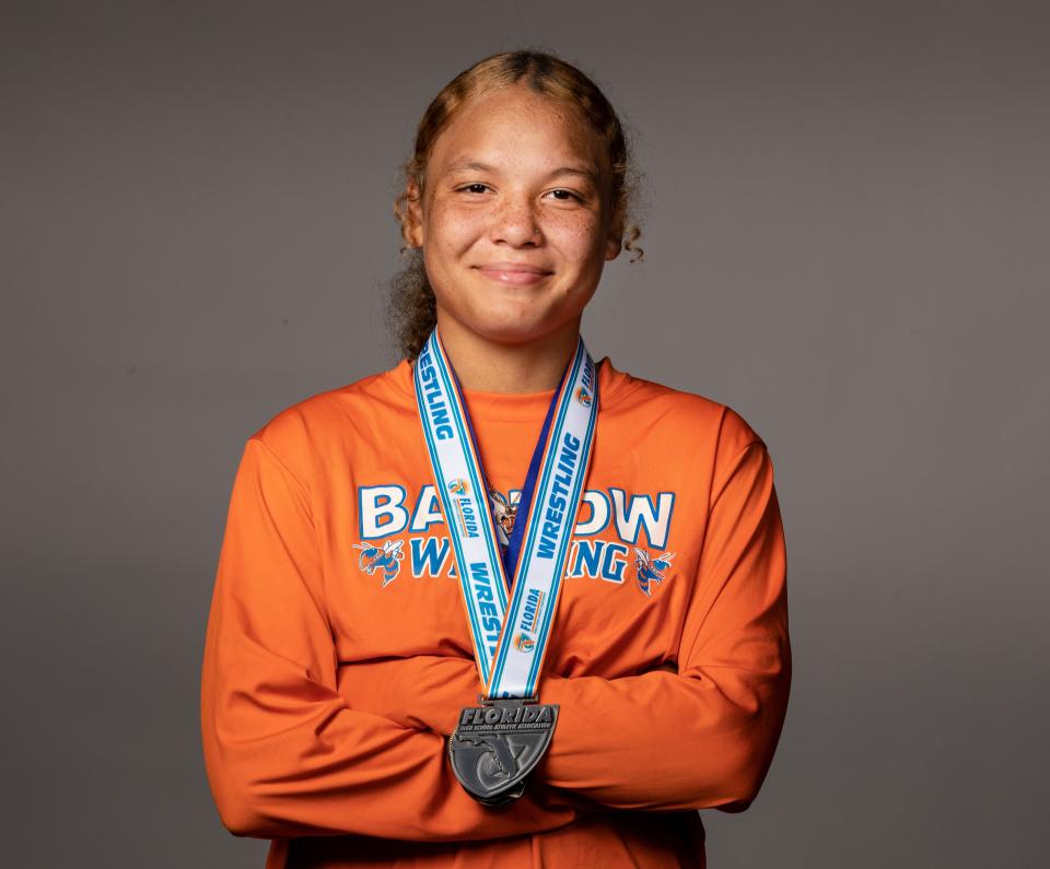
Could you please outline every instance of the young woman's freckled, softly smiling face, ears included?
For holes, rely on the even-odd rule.
[[[604,143],[571,107],[521,84],[469,99],[410,207],[439,322],[506,343],[578,327],[620,250],[610,186]]]

